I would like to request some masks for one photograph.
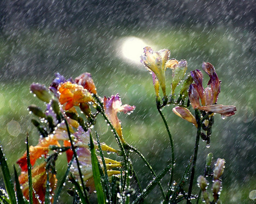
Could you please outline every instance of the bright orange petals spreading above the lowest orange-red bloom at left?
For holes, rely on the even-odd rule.
[[[33,166],[37,159],[46,156],[49,151],[49,145],[60,145],[57,140],[52,137],[43,138],[39,141],[38,145],[30,146],[30,163]],[[16,162],[19,164],[22,171],[27,171],[27,152]]]

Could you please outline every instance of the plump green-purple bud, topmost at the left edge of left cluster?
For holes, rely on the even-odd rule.
[[[49,103],[52,95],[49,93],[46,86],[42,84],[33,83],[30,85],[30,90],[36,95],[40,100]]]

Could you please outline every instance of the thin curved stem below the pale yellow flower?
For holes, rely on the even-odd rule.
[[[160,110],[160,107],[158,105],[156,105],[156,106],[158,108],[159,114],[161,115],[161,117],[163,119],[164,125],[166,126],[166,130],[168,132],[170,143],[171,143],[172,161],[171,161],[171,176],[170,176],[170,181],[169,181],[169,190],[167,193],[167,201],[168,201],[170,198],[170,193],[171,193],[172,178],[174,176],[174,141],[172,140],[172,135],[171,135],[170,129],[168,127],[166,118],[164,118],[164,115],[163,115],[162,111]]]

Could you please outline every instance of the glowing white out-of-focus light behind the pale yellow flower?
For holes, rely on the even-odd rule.
[[[146,46],[147,44],[142,39],[137,37],[125,38],[122,41],[122,55],[131,63],[139,64],[141,61],[143,48]]]

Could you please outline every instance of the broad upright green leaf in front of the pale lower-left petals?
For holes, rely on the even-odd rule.
[[[105,201],[104,191],[101,185],[101,173],[100,173],[98,159],[97,159],[94,144],[93,144],[92,134],[90,134],[90,154],[92,157],[93,180],[94,180],[95,189],[97,191],[98,203],[104,204],[106,203],[106,201]]]

